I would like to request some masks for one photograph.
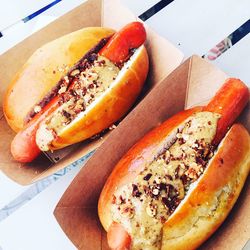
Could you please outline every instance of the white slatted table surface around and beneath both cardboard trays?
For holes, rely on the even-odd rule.
[[[62,0],[31,21],[26,23],[21,21],[51,2],[53,0],[4,1],[4,8],[2,6],[0,8],[0,31],[3,34],[0,38],[0,54],[85,0]],[[122,0],[122,2],[136,15],[140,15],[159,1]],[[175,0],[146,23],[179,47],[185,57],[188,57],[191,54],[206,54],[249,17],[249,0]],[[239,77],[249,84],[249,45],[250,34],[213,63],[229,75]],[[75,249],[56,223],[53,210],[79,169],[80,165],[59,180],[51,182],[52,184],[48,183],[50,185],[44,191],[0,221],[2,249]],[[50,179],[47,180],[49,181]],[[0,173],[0,208],[31,188],[33,187],[20,186]]]

